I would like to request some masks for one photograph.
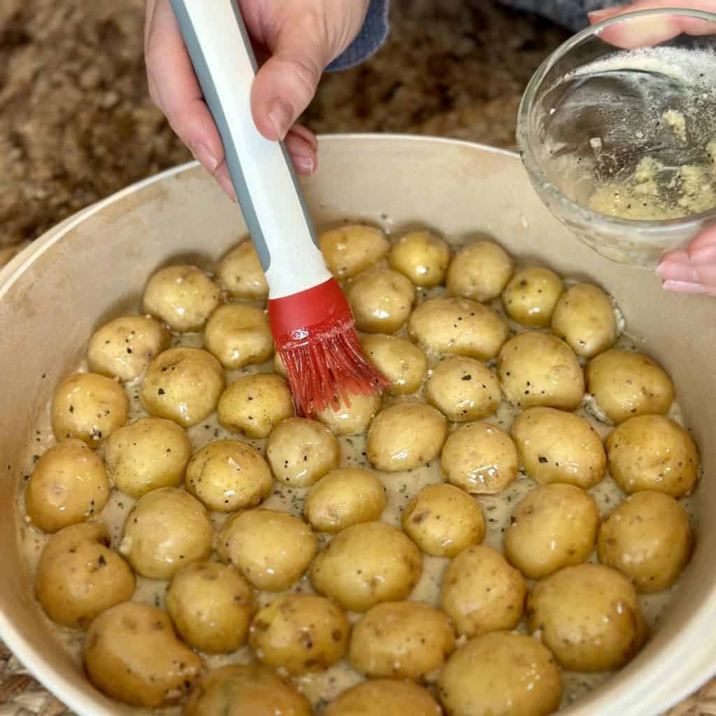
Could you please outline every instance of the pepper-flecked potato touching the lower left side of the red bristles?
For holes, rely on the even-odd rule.
[[[281,420],[294,415],[294,399],[280,375],[254,373],[242,376],[221,394],[216,412],[226,430],[261,440]]]

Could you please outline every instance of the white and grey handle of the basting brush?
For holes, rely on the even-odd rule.
[[[235,0],[171,0],[204,99],[218,127],[238,203],[266,273],[269,298],[328,281],[316,233],[282,142],[251,117],[256,58]]]

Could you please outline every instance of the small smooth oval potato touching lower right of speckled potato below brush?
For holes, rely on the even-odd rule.
[[[370,470],[337,468],[311,488],[304,517],[319,532],[337,533],[379,520],[384,507],[385,488]]]

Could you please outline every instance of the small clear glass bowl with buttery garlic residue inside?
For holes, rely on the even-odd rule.
[[[716,223],[716,14],[622,14],[559,47],[517,139],[548,209],[591,248],[653,269]]]

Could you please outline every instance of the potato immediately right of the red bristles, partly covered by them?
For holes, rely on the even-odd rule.
[[[367,359],[390,381],[390,395],[409,395],[420,388],[427,371],[425,353],[410,341],[372,334],[361,339]]]

